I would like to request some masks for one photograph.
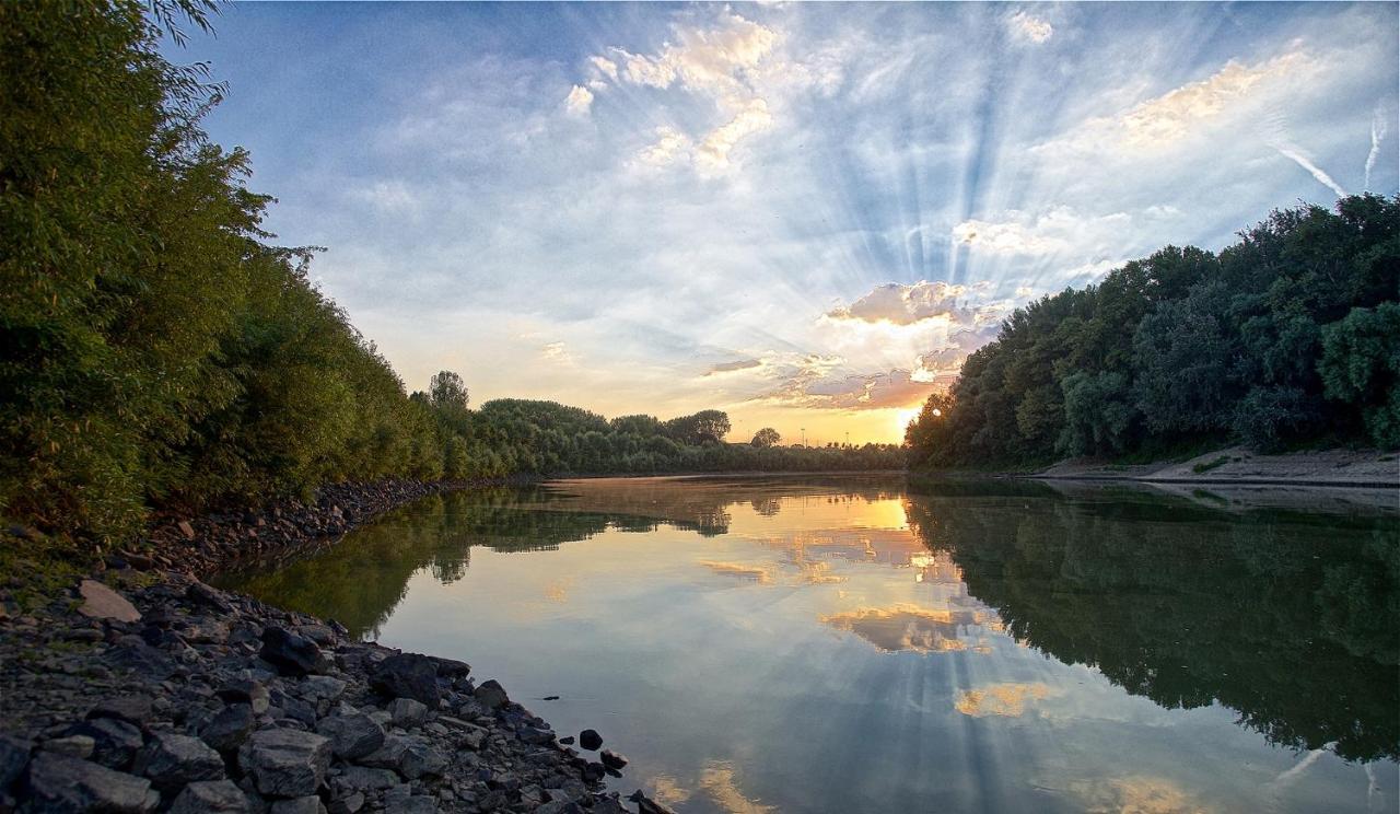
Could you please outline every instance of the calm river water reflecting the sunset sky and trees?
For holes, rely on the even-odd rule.
[[[1396,811],[1394,496],[1259,500],[571,481],[225,584],[466,660],[685,813]]]

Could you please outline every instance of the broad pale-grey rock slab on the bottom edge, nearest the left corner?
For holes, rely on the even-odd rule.
[[[34,811],[154,811],[161,796],[151,782],[66,755],[39,752],[29,761],[28,808]]]

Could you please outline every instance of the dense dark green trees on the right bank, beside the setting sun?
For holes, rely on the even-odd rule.
[[[1400,447],[1400,198],[1270,214],[1016,310],[909,426],[925,467]]]

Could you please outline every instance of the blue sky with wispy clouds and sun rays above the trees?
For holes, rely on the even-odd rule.
[[[1394,195],[1397,6],[224,6],[283,245],[409,389],[896,441],[1018,305]]]

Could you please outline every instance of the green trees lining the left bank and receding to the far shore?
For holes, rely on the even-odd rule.
[[[308,280],[315,249],[269,242],[248,154],[200,127],[221,88],[160,56],[162,29],[210,8],[0,3],[4,518],[101,542],[153,507],[336,481],[900,464],[889,446],[722,444],[713,412],[473,412],[455,377],[410,398]]]

